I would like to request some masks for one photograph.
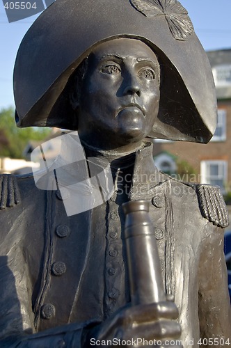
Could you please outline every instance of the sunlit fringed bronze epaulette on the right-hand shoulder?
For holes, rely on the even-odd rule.
[[[202,216],[216,226],[227,227],[229,224],[228,210],[220,188],[198,184],[196,191]]]

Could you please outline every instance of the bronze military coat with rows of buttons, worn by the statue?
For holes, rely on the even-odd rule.
[[[28,336],[31,347],[36,338],[54,342],[54,335],[78,347],[82,329],[129,302],[126,197],[118,199],[115,187],[104,204],[67,216],[68,194],[37,189],[32,176],[17,182],[21,202],[0,212],[1,337],[27,340],[41,331]],[[184,348],[192,341],[199,347],[200,337],[230,335],[223,229],[202,216],[196,190],[159,173],[150,145],[136,153],[129,199],[150,201],[164,289],[175,297]]]

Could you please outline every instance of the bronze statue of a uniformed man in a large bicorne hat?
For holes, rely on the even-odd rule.
[[[1,175],[1,347],[228,347],[223,198],[159,173],[147,139],[207,143],[216,128],[212,72],[186,10],[175,0],[56,0],[19,47],[14,86],[17,125],[78,130],[114,186],[68,216],[70,189],[58,180],[42,190],[33,175]],[[122,204],[143,199],[166,296],[131,306]]]

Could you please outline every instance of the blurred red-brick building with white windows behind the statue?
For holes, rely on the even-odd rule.
[[[218,99],[218,125],[208,144],[154,141],[157,167],[184,181],[231,191],[231,49],[207,52]]]

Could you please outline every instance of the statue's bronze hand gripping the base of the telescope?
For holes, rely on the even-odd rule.
[[[157,347],[169,347],[170,341],[180,338],[180,324],[177,319],[178,310],[172,301],[163,301],[138,306],[122,308],[105,322],[88,333],[88,345],[105,345],[103,341],[111,340],[118,345],[118,340],[124,347],[143,347],[147,342]],[[166,346],[164,342],[166,342]],[[159,342],[157,342],[159,341]],[[159,344],[162,342],[161,345]],[[127,343],[125,343],[127,342]],[[121,343],[120,343],[121,344]],[[181,347],[178,340],[177,347]],[[171,347],[175,347],[171,344]]]

